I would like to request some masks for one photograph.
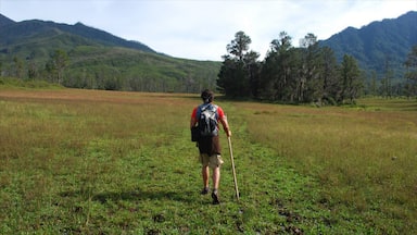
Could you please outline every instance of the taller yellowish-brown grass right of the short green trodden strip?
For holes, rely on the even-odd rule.
[[[256,141],[318,180],[316,203],[334,213],[332,226],[353,220],[366,232],[407,233],[417,217],[417,113],[403,107],[415,110],[417,103],[362,102],[361,110],[241,106],[252,112],[247,118]],[[368,106],[389,111],[366,111]]]

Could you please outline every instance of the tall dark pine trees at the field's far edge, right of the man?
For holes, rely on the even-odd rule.
[[[355,58],[344,54],[341,62],[329,47],[320,47],[317,37],[307,34],[300,47],[292,46],[292,38],[286,32],[270,42],[263,61],[260,53],[250,50],[251,38],[238,32],[227,45],[218,74],[217,86],[231,98],[254,98],[285,103],[316,102],[318,104],[354,103],[362,95],[392,95],[392,74],[378,82],[375,73],[368,78]],[[416,96],[415,69],[410,52],[405,64],[410,69],[401,91]],[[414,74],[414,75],[413,75]]]

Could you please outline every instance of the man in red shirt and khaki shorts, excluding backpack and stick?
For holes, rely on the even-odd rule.
[[[201,92],[201,98],[203,103],[199,107],[195,107],[191,113],[190,128],[199,125],[200,114],[205,109],[212,109],[215,112],[216,125],[211,136],[202,136],[198,140],[199,151],[200,151],[200,161],[202,164],[202,176],[203,176],[203,189],[202,195],[208,194],[208,177],[210,169],[213,171],[213,190],[212,198],[213,203],[218,205],[218,185],[220,182],[220,166],[223,164],[223,159],[220,156],[220,143],[218,138],[218,122],[222,123],[223,129],[225,131],[228,137],[231,136],[229,124],[223,109],[213,103],[214,94],[213,91],[205,89]],[[201,124],[200,124],[201,125]]]

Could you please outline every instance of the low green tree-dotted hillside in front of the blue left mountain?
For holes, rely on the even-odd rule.
[[[192,61],[121,48],[56,49],[47,57],[0,60],[0,75],[71,88],[200,92],[215,88],[220,62]]]

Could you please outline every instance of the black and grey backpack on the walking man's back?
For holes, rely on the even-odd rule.
[[[216,104],[204,103],[197,110],[197,119],[199,119],[198,128],[201,137],[213,137],[218,135],[217,108]]]

